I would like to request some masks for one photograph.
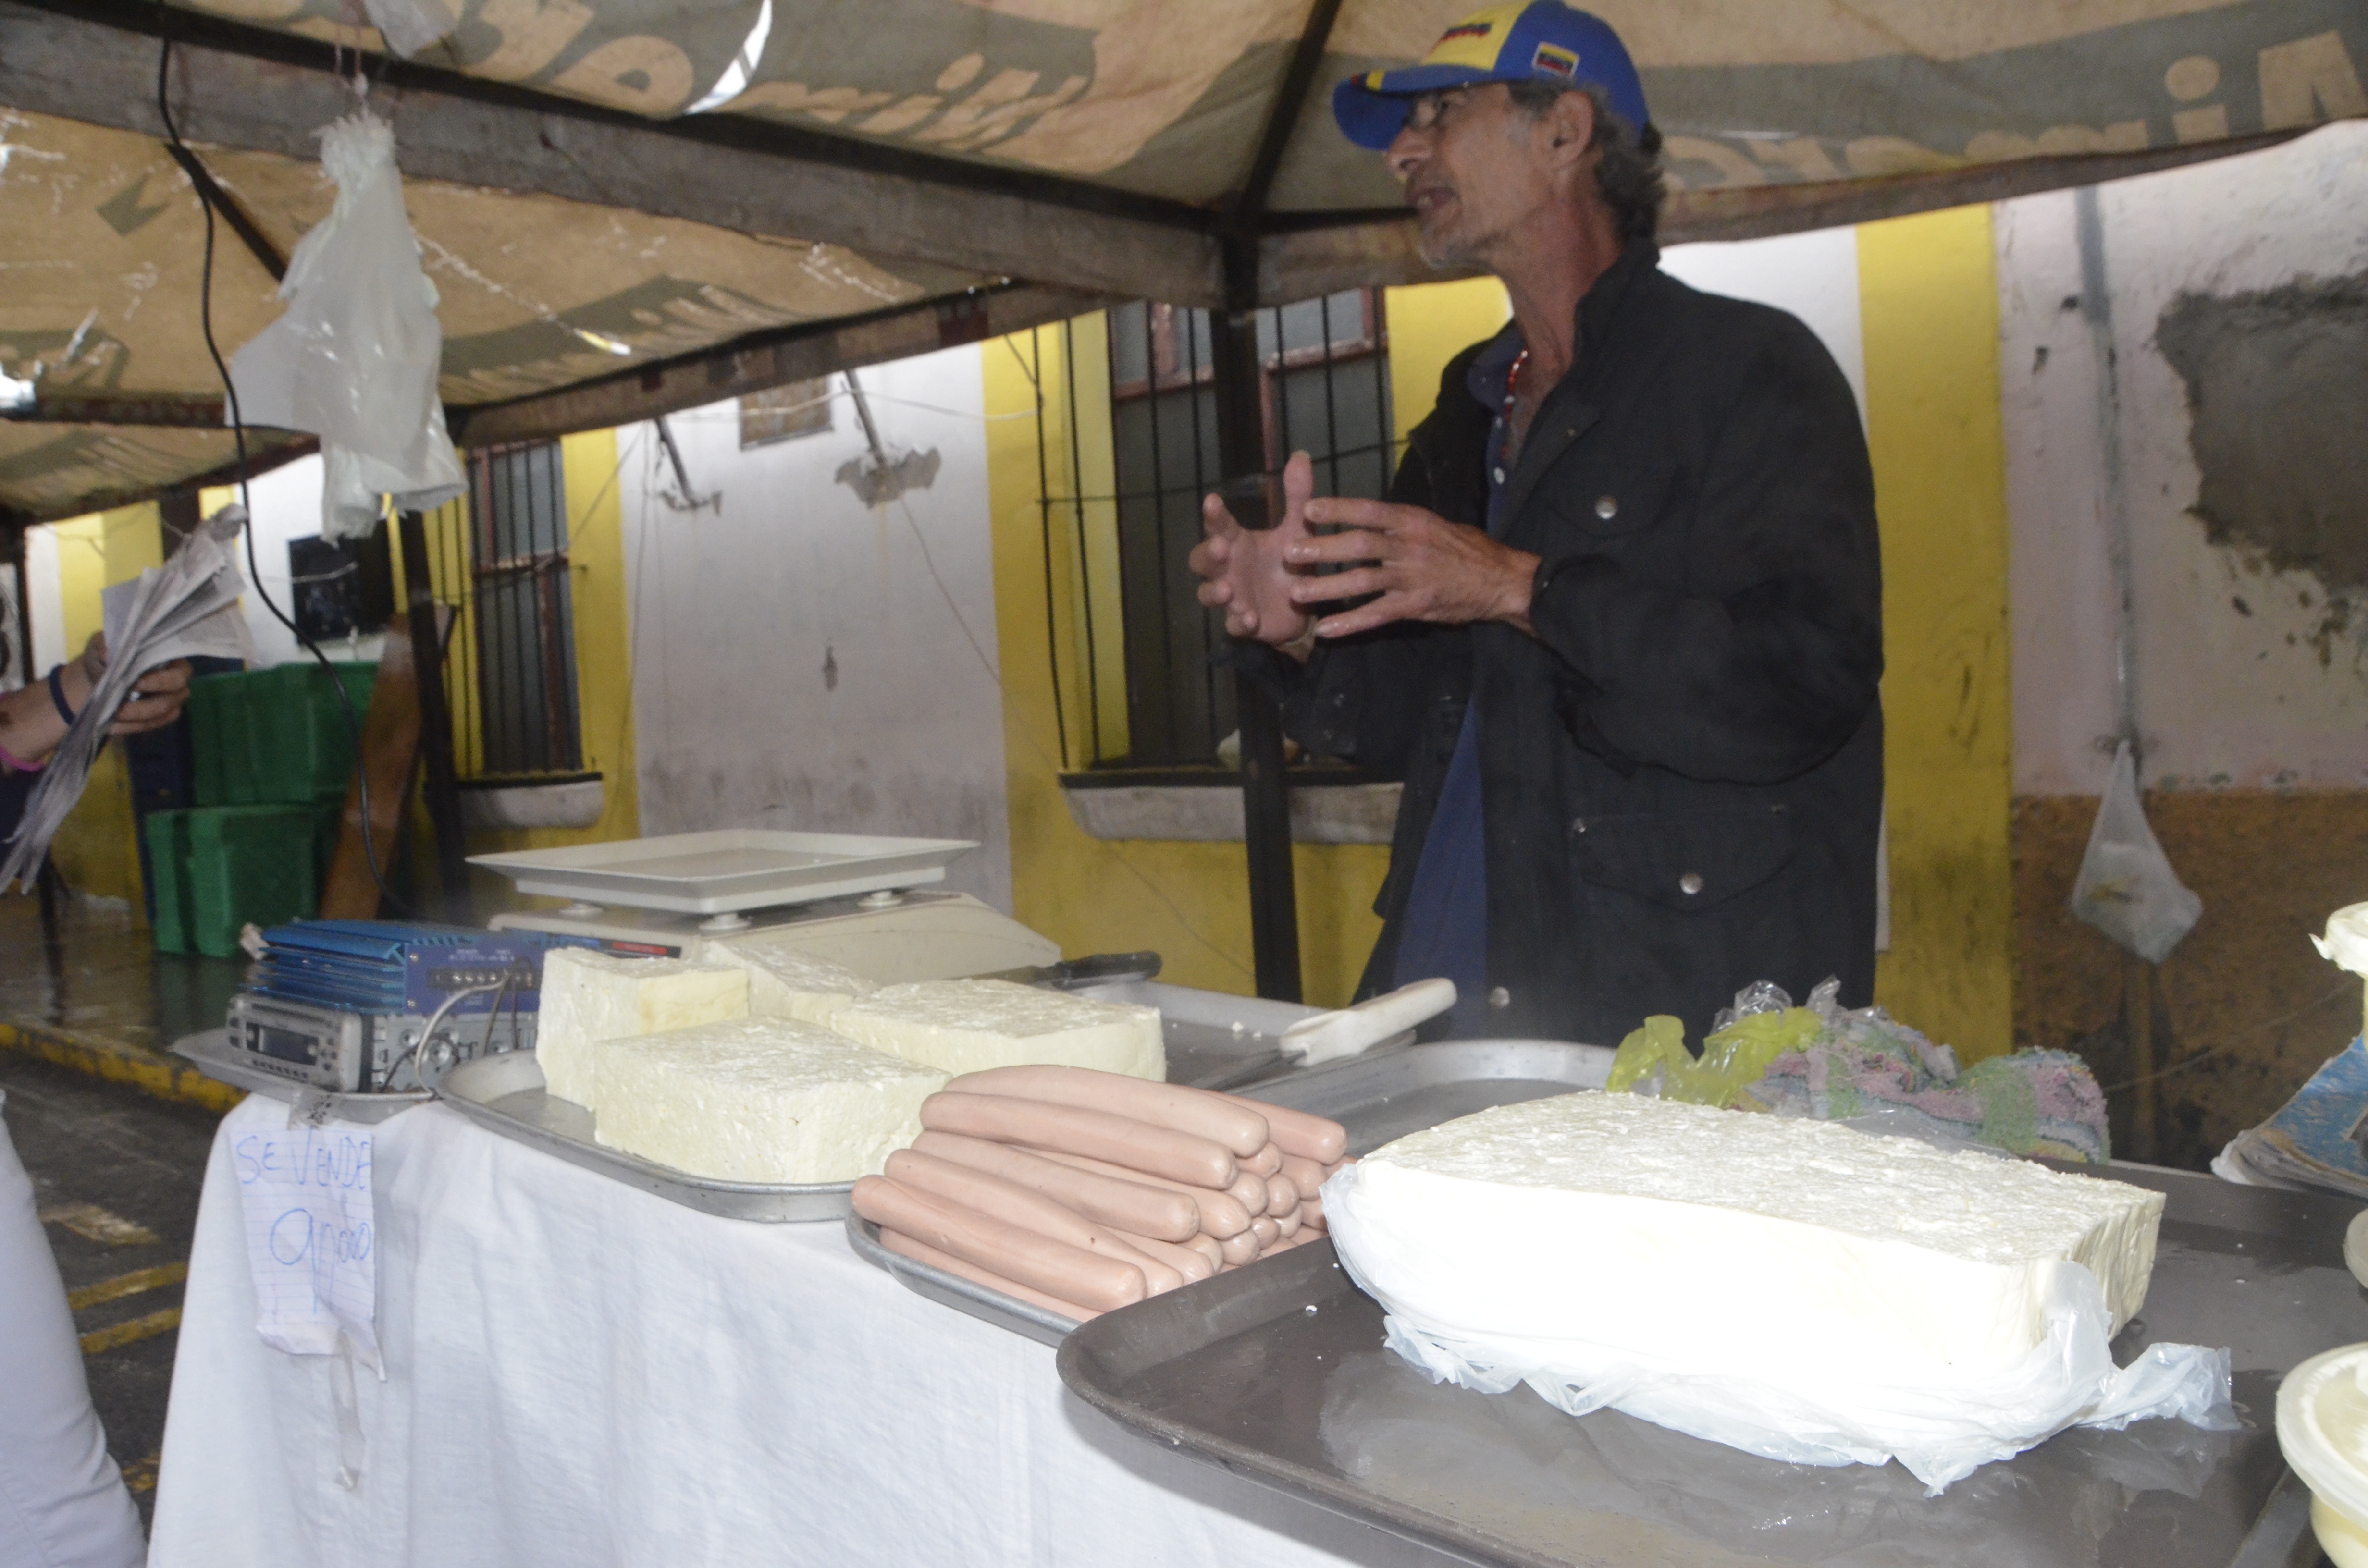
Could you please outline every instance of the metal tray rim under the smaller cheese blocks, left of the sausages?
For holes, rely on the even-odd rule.
[[[855,1191],[855,1182],[713,1182],[606,1149],[592,1142],[590,1111],[542,1092],[542,1063],[533,1052],[464,1061],[445,1073],[436,1092],[502,1137],[725,1220],[843,1220],[848,1194]]]

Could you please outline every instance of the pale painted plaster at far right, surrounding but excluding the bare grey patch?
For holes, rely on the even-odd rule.
[[[2347,585],[2205,538],[2188,388],[2155,341],[2183,291],[2368,268],[2368,123],[2098,187],[2091,272],[2100,261],[2105,322],[2081,284],[2074,192],[2003,201],[1996,216],[2018,793],[2103,789],[2119,725],[2117,519],[2148,786],[2368,784],[2368,628],[2354,616],[2330,630],[2330,587],[2344,599]],[[2363,398],[2354,381],[2349,407]],[[2264,407],[2264,441],[2271,424]]]

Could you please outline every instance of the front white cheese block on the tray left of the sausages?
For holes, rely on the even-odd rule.
[[[921,1137],[935,1073],[796,1018],[594,1049],[594,1137],[720,1182],[852,1182]]]

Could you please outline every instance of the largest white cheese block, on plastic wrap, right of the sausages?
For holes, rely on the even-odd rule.
[[[2119,1331],[2162,1220],[2126,1182],[1636,1094],[1499,1106],[1352,1170],[1326,1215],[1392,1312],[1762,1381],[2003,1371],[2065,1262]]]

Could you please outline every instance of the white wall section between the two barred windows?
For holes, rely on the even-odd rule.
[[[699,512],[618,431],[644,834],[976,838],[947,886],[1011,907],[978,353],[860,372],[881,438],[942,460],[881,509],[834,481],[864,450],[838,377],[831,431],[746,452],[734,403],[673,415]]]

